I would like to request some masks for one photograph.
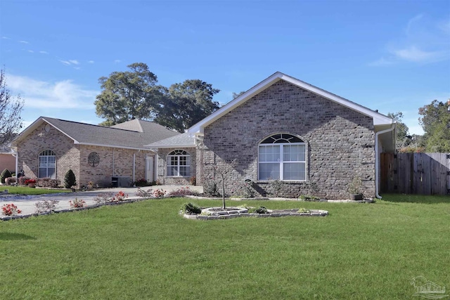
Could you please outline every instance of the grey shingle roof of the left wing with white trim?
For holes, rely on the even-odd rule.
[[[58,131],[68,136],[68,138],[71,138],[75,144],[115,148],[148,150],[143,146],[180,134],[155,122],[136,119],[116,126],[107,127],[50,117],[39,117],[39,119],[20,133],[11,144],[16,145],[44,122],[58,129]]]

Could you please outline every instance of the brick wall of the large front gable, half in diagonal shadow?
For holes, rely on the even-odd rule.
[[[283,80],[207,126],[198,152],[203,153],[203,166],[238,160],[226,179],[229,193],[250,178],[257,193],[274,195],[273,183],[257,181],[257,145],[276,133],[290,133],[307,143],[307,181],[283,182],[281,195],[310,194],[311,183],[316,183],[320,197],[348,199],[347,185],[354,176],[363,179],[366,196],[375,195],[372,118]],[[212,176],[206,169],[198,177],[202,182]]]

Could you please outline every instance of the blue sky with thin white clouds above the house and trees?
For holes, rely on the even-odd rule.
[[[146,63],[158,84],[232,100],[283,72],[383,114],[450,98],[450,1],[0,0],[0,65],[38,117],[103,121],[100,77]]]

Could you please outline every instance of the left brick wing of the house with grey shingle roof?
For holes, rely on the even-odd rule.
[[[127,186],[141,178],[155,181],[155,152],[144,145],[179,134],[139,119],[106,127],[39,117],[13,140],[11,148],[17,169],[28,177],[63,183],[72,169],[77,188],[89,181]]]

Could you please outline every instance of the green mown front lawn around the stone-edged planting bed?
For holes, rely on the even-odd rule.
[[[415,199],[227,202],[321,218],[193,221],[174,198],[3,221],[0,297],[413,299],[419,275],[450,287],[450,197]]]

